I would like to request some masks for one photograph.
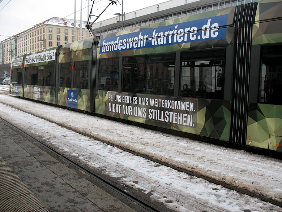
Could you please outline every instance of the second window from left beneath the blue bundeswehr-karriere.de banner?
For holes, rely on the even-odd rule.
[[[143,93],[144,55],[124,57],[122,61],[122,91]]]

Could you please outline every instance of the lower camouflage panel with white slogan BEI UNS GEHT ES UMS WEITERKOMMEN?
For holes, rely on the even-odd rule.
[[[110,96],[109,94],[113,95]],[[128,102],[128,98],[121,98],[120,101],[116,99],[114,96],[125,96],[130,97],[131,103]],[[134,104],[132,99],[134,97],[139,98],[148,98],[148,105],[139,104],[139,102]],[[113,99],[112,99],[113,98]],[[193,114],[193,125],[185,126],[183,124],[177,124],[169,121],[164,121],[164,116],[161,117],[159,115],[158,118],[150,118],[149,117],[149,109],[157,109],[158,113],[161,114],[163,111],[169,111],[174,113],[179,113],[179,110],[176,109],[168,109],[164,107],[153,107],[150,105],[151,99],[167,99],[167,100],[181,100],[184,102],[192,101],[196,102],[194,104],[194,112],[192,111],[182,111],[182,113],[186,113],[187,115]],[[127,101],[127,103],[125,103]],[[120,110],[118,109],[116,112],[109,111],[109,102],[115,102],[116,104],[120,104]],[[125,112],[123,106],[132,107],[132,114]],[[142,108],[141,113],[135,116],[135,109]],[[145,109],[144,109],[145,108]],[[136,121],[140,123],[145,123],[154,126],[160,126],[168,129],[178,130],[182,132],[193,133],[197,135],[208,136],[221,140],[229,140],[230,135],[230,109],[231,102],[230,101],[222,101],[216,99],[195,99],[195,98],[174,98],[168,96],[157,96],[157,95],[147,95],[147,94],[130,94],[130,93],[119,93],[113,91],[101,91],[98,90],[98,95],[96,96],[96,113],[104,114],[107,116],[122,118],[130,121]],[[128,114],[128,115],[127,115]],[[175,114],[177,116],[177,114]],[[183,120],[183,119],[182,119]],[[174,120],[177,122],[177,119]],[[182,121],[180,121],[183,123]],[[185,121],[186,122],[186,121]]]

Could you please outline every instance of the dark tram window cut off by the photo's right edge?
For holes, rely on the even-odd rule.
[[[282,45],[263,46],[259,102],[282,105]],[[267,58],[266,58],[267,57]]]

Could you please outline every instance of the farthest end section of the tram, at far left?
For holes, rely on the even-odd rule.
[[[24,55],[16,56],[12,62],[10,92],[12,95],[24,96],[23,90]]]

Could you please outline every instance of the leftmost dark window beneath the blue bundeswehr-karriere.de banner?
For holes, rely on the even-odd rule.
[[[118,88],[119,58],[99,60],[98,89],[117,91]]]

